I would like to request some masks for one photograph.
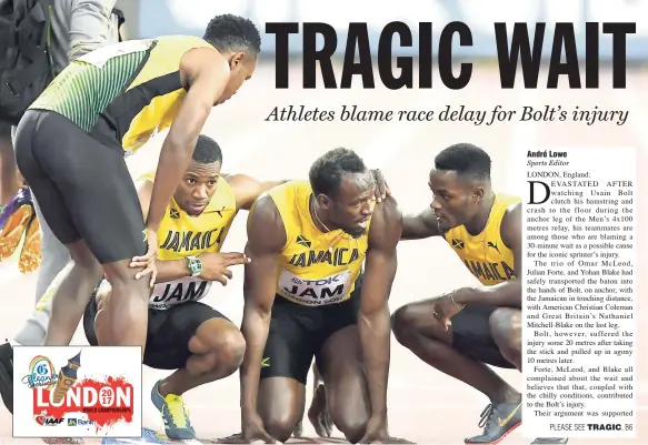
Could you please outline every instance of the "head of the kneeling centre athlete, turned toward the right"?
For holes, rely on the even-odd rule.
[[[309,172],[319,218],[328,229],[360,236],[373,212],[376,182],[353,151],[333,149],[319,158]]]

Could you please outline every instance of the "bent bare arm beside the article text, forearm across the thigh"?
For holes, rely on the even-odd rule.
[[[507,210],[501,220],[501,240],[514,253],[516,279],[492,286],[463,287],[455,293],[458,304],[483,304],[499,307],[522,307],[522,205]]]

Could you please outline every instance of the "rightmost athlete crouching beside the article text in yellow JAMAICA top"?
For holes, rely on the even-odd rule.
[[[496,444],[522,422],[521,395],[487,366],[522,368],[521,203],[494,193],[490,156],[466,143],[437,155],[429,185],[430,208],[403,218],[402,239],[443,236],[482,286],[400,307],[393,334],[429,365],[488,396],[483,433],[466,443]]]

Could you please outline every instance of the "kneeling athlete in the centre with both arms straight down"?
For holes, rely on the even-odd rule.
[[[270,190],[248,218],[239,438],[290,437],[315,356],[337,428],[386,441],[401,214],[391,196],[375,205],[376,181],[350,150],[322,155],[309,178]]]

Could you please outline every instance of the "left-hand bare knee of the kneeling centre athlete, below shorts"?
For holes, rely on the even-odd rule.
[[[261,378],[257,412],[263,427],[279,442],[290,438],[303,415],[306,386],[288,377]]]

